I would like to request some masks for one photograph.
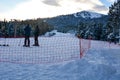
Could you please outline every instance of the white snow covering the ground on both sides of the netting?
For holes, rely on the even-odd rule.
[[[31,61],[34,58],[62,55],[67,61],[53,63],[11,63],[0,61],[0,80],[119,80],[120,79],[120,46],[103,41],[91,41],[91,48],[81,59],[71,58],[79,56],[79,39],[70,33],[55,32],[51,37],[39,37],[40,46],[22,47],[23,38],[6,39],[9,47],[0,46],[0,60],[2,58],[19,62],[24,57]],[[62,39],[61,39],[62,38]],[[68,41],[66,41],[68,40]],[[0,43],[5,42],[1,38]],[[31,38],[31,45],[33,43]],[[62,41],[65,41],[64,43]],[[61,49],[57,46],[61,43]],[[17,46],[20,43],[20,46]],[[63,45],[64,44],[64,45]],[[52,45],[52,47],[51,47]],[[67,45],[67,46],[66,46]],[[73,45],[73,47],[69,47]],[[74,46],[76,45],[76,46]],[[72,49],[72,51],[71,51]],[[8,51],[9,52],[8,52]],[[20,56],[21,51],[24,56]],[[35,51],[37,50],[37,51]],[[50,51],[49,53],[47,52]],[[19,51],[19,52],[17,52]],[[35,51],[35,53],[33,53]],[[62,54],[68,51],[69,55]],[[56,52],[58,54],[56,54]],[[59,53],[60,52],[60,53]],[[15,56],[18,55],[19,56]],[[50,55],[49,55],[50,54]],[[11,56],[12,55],[12,56]],[[27,56],[26,56],[27,55]],[[64,57],[65,56],[65,57]],[[64,57],[64,58],[63,58]],[[14,59],[14,60],[12,60]],[[68,60],[69,59],[69,60]],[[71,60],[70,60],[71,59]],[[36,60],[39,60],[37,58]],[[49,60],[49,59],[48,59]],[[58,60],[58,59],[56,59]]]

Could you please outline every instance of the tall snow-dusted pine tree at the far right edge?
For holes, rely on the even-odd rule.
[[[109,7],[109,30],[110,33],[113,33],[114,36],[120,35],[120,0],[117,0],[117,2],[114,2],[113,5]]]

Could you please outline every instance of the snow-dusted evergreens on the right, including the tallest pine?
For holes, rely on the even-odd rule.
[[[109,7],[107,22],[81,21],[78,24],[77,35],[86,39],[91,36],[95,40],[109,40],[115,43],[120,41],[120,0]]]

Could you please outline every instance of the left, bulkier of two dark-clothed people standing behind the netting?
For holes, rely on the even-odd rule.
[[[30,25],[27,24],[27,26],[24,28],[25,32],[25,41],[24,41],[24,47],[30,47],[30,33],[31,33],[31,28]]]

